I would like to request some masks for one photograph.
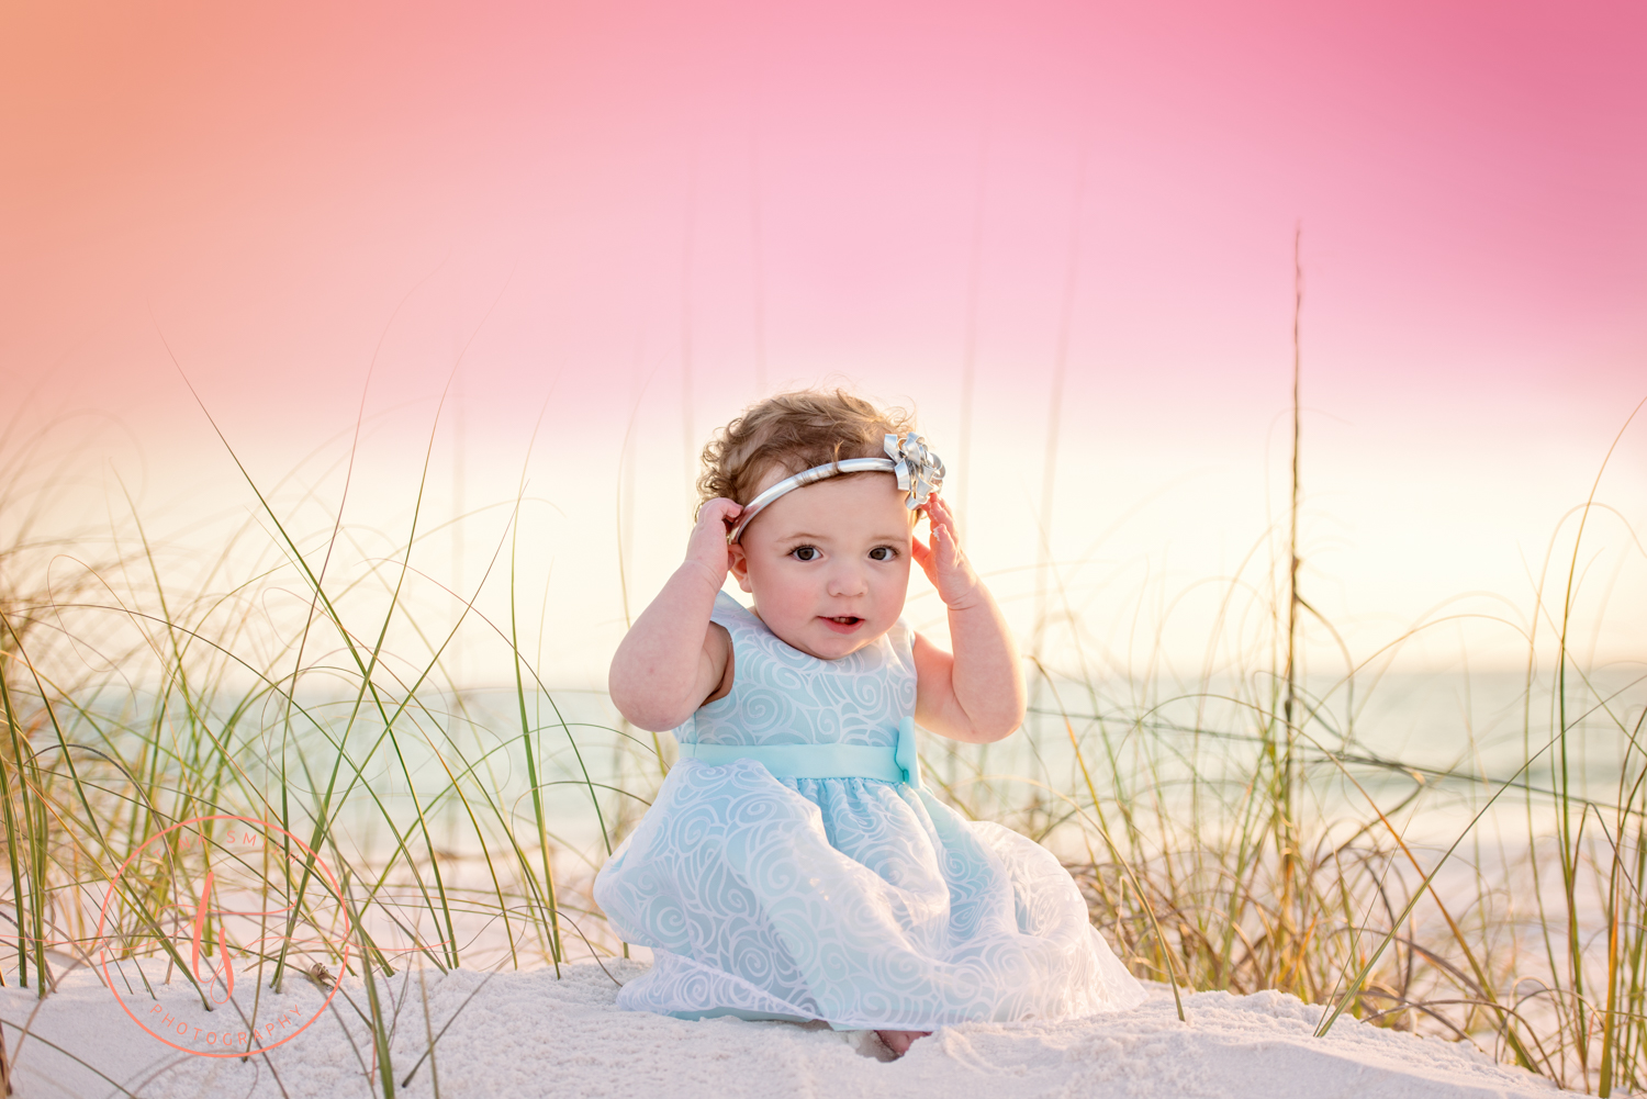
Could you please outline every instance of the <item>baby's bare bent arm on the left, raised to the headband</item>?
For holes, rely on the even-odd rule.
[[[721,684],[731,639],[712,628],[715,595],[726,582],[726,519],[741,509],[712,499],[698,512],[687,560],[664,583],[613,654],[606,689],[631,723],[675,728]]]

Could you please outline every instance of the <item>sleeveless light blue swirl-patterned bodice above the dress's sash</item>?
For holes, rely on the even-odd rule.
[[[912,634],[903,621],[833,661],[784,644],[725,592],[710,621],[731,634],[733,685],[675,730],[684,745],[884,748],[916,712]]]

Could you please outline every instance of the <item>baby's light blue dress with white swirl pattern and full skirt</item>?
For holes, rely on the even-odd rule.
[[[1143,1000],[1049,852],[965,821],[917,776],[774,778],[749,758],[688,755],[850,745],[891,756],[916,705],[903,623],[824,661],[725,593],[713,621],[731,634],[731,692],[675,730],[682,760],[595,880],[623,939],[652,949],[621,1007],[932,1030]]]

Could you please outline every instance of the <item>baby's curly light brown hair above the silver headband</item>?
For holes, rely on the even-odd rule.
[[[794,475],[845,458],[881,458],[888,435],[911,430],[907,410],[876,409],[843,389],[768,397],[715,432],[703,448],[698,506],[716,496],[748,504],[774,466]]]

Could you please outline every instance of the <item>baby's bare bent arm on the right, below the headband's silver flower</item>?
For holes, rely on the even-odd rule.
[[[960,552],[955,519],[942,498],[927,504],[927,517],[931,544],[916,542],[914,554],[949,608],[955,652],[916,634],[916,720],[954,740],[1000,740],[1024,720],[1028,695],[1018,646],[990,590]]]

